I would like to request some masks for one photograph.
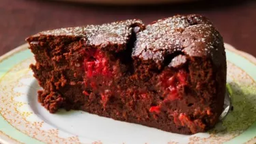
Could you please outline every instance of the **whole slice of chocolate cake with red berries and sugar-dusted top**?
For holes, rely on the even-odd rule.
[[[27,38],[50,113],[83,110],[180,134],[205,132],[223,111],[223,38],[203,16],[124,20]]]

